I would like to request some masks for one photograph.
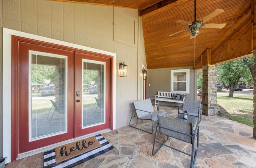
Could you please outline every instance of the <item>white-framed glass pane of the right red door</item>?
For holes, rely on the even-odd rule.
[[[105,63],[82,60],[83,128],[105,123]]]

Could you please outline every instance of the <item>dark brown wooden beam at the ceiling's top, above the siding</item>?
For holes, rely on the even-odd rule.
[[[142,7],[140,10],[139,10],[139,16],[143,16],[145,14],[148,14],[154,10],[157,10],[159,8],[162,8],[168,4],[171,4],[173,2],[176,2],[177,0],[162,0],[160,2],[157,2],[156,4],[153,4],[151,6],[148,6],[148,7]]]

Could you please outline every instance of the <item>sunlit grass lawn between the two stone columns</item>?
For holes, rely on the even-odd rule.
[[[219,116],[253,126],[253,95],[218,93],[217,100]]]

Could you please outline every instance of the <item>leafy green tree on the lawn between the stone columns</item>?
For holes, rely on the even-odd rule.
[[[244,81],[252,81],[252,75],[248,66],[243,63],[242,59],[230,61],[228,63],[219,64],[218,68],[218,81],[227,83],[229,87],[229,97],[233,97],[234,90],[240,79]]]

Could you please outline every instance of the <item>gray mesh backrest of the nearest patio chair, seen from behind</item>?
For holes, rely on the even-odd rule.
[[[191,123],[160,115],[157,117],[160,134],[167,135],[187,143],[193,143],[193,126]]]

